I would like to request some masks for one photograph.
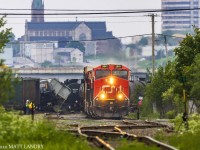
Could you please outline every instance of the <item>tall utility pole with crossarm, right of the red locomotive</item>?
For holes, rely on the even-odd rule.
[[[155,42],[155,31],[154,31],[154,24],[155,24],[155,16],[156,14],[149,14],[148,16],[151,16],[151,22],[152,22],[152,75],[155,74],[155,49],[154,49],[154,42]]]

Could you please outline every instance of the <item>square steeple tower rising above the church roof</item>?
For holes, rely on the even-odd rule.
[[[31,22],[44,22],[44,2],[33,0],[31,6]]]

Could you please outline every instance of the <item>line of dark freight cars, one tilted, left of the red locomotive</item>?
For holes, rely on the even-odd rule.
[[[80,85],[78,79],[62,83],[57,79],[19,78],[17,83],[13,83],[13,98],[6,102],[4,107],[24,110],[26,100],[30,100],[37,111],[80,111]]]

